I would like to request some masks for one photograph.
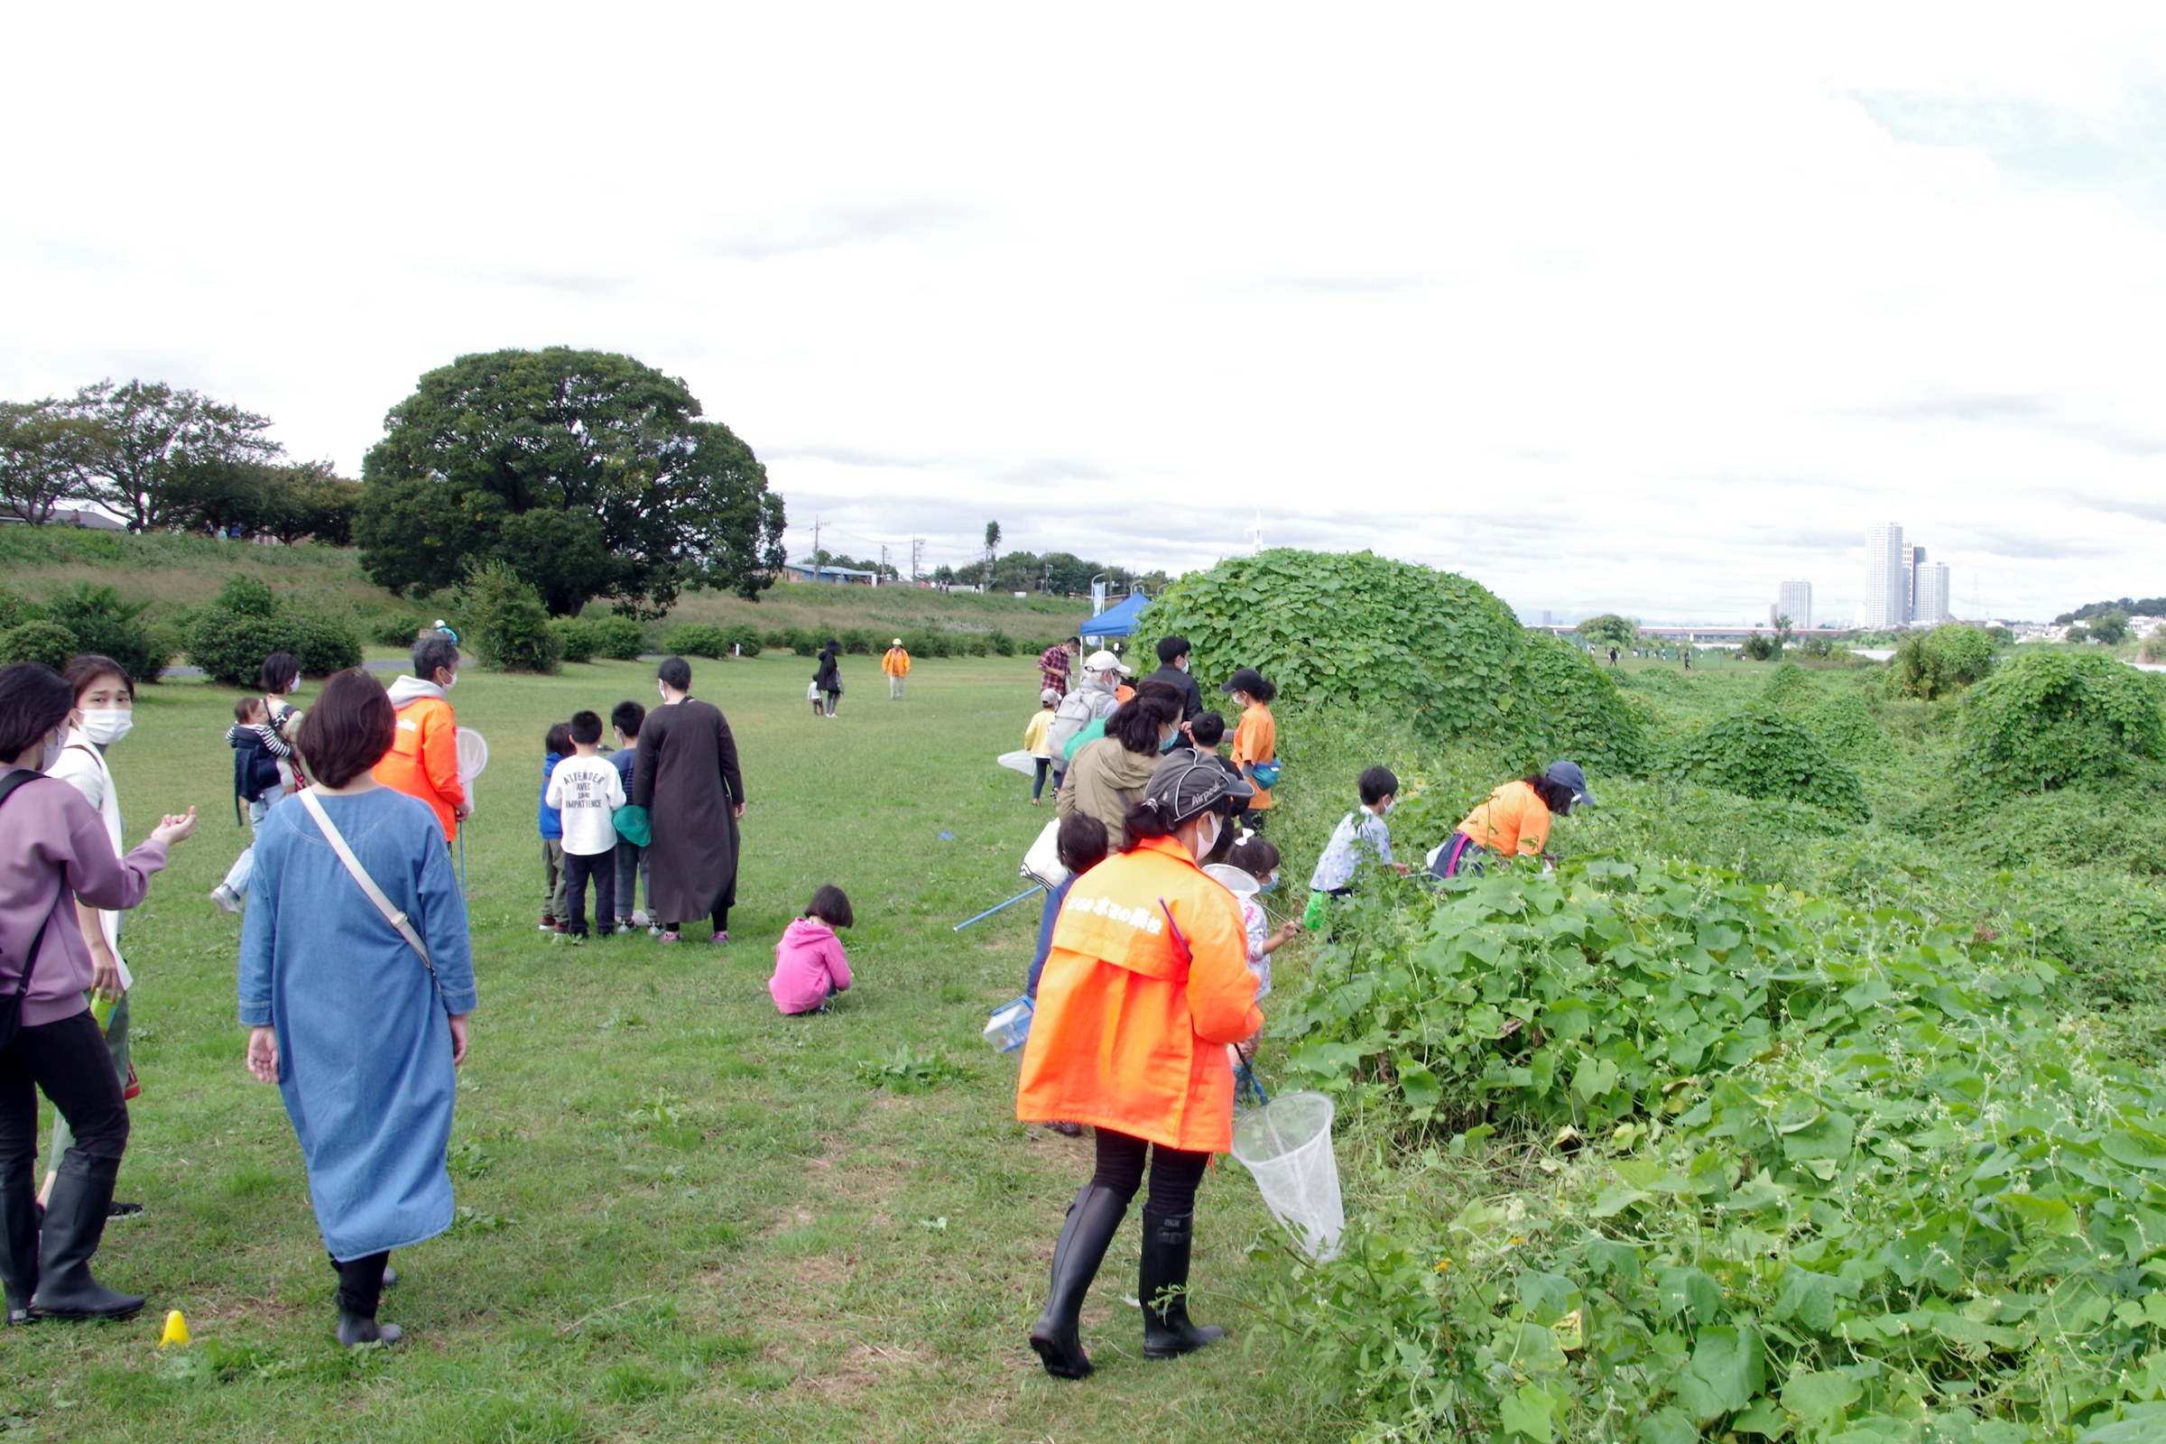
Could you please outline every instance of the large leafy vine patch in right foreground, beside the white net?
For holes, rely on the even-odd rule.
[[[1276,1312],[1360,1438],[2153,1438],[2166,1087],[2062,1002],[1967,927],[1674,864],[1347,909],[1274,1033],[1408,1126]]]

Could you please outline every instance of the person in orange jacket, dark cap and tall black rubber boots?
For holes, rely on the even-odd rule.
[[[1053,1245],[1053,1288],[1031,1349],[1055,1379],[1092,1370],[1083,1295],[1144,1184],[1144,1357],[1170,1360],[1226,1336],[1189,1323],[1196,1184],[1232,1147],[1226,1043],[1263,1026],[1241,905],[1202,875],[1250,786],[1189,751],[1159,764],[1128,808],[1126,851],[1081,875],[1061,903],[1022,1046],[1018,1119],[1098,1130],[1098,1167]]]

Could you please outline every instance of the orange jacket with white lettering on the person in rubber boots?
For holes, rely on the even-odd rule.
[[[1232,1147],[1226,1043],[1261,1026],[1241,905],[1185,846],[1146,838],[1068,890],[1016,1117],[1222,1154]]]

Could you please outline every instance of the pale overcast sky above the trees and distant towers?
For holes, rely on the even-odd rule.
[[[682,377],[793,554],[2166,591],[2157,6],[15,6],[0,396]]]

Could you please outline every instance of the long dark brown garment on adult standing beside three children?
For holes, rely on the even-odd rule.
[[[648,712],[639,727],[632,803],[648,810],[654,866],[648,907],[691,922],[736,905],[736,738],[713,701],[687,697]]]

